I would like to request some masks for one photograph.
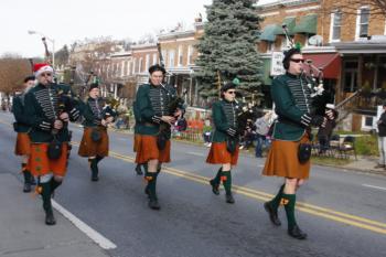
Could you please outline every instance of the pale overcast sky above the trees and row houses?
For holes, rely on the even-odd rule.
[[[267,2],[272,0],[260,0]],[[190,26],[212,0],[0,0],[0,55],[42,56],[37,31],[55,40],[57,51],[97,36],[139,40],[183,22]],[[49,42],[50,51],[52,44]]]

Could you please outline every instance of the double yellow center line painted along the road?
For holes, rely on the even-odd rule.
[[[8,122],[3,122],[1,120],[0,120],[0,122],[9,125]],[[72,144],[78,147],[79,142],[72,141]],[[109,151],[109,154],[110,154],[110,157],[116,158],[116,159],[120,159],[122,161],[127,161],[127,162],[131,162],[131,163],[135,162],[133,157],[124,156],[124,154],[120,154],[120,153],[117,153],[114,151]],[[183,178],[183,179],[186,179],[190,181],[206,184],[206,185],[208,184],[208,181],[210,181],[210,178],[207,178],[207,176],[193,174],[192,172],[182,171],[182,170],[178,170],[178,169],[170,168],[170,167],[163,167],[162,172],[171,174],[171,175],[175,175],[179,178]],[[265,193],[262,191],[257,191],[254,189],[249,189],[246,186],[233,185],[233,189],[234,189],[234,192],[237,194],[245,195],[247,197],[255,199],[255,200],[262,201],[262,202],[268,201],[274,196],[272,194]],[[321,206],[317,206],[317,205],[308,204],[308,203],[303,203],[303,202],[297,202],[297,210],[304,212],[304,213],[312,214],[314,216],[320,216],[320,217],[323,217],[323,218],[326,218],[330,221],[347,224],[351,226],[355,226],[355,227],[360,227],[360,228],[363,228],[366,231],[371,231],[371,232],[386,235],[386,223],[373,221],[369,218],[365,218],[365,217],[361,217],[361,216],[356,216],[356,215],[352,215],[352,214],[347,214],[347,213],[337,212],[337,211],[334,211],[331,208],[321,207]]]

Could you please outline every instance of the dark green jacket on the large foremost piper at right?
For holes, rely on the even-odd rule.
[[[288,86],[288,81],[293,78],[293,75],[280,75],[274,79],[271,85],[275,111],[278,115],[274,124],[274,139],[298,141],[307,131],[307,127],[301,124],[307,111],[302,111],[297,106],[296,98]]]

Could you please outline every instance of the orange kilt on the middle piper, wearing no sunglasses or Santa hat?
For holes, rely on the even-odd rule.
[[[146,163],[154,159],[162,163],[170,162],[170,140],[167,141],[167,147],[160,151],[157,147],[156,136],[140,135],[136,163]]]

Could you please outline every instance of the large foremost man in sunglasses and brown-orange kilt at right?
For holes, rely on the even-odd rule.
[[[285,183],[277,195],[264,204],[271,223],[280,226],[278,208],[285,205],[288,234],[298,239],[305,239],[294,217],[297,191],[310,174],[310,128],[324,126],[326,119],[333,119],[332,111],[326,116],[317,116],[312,106],[311,88],[302,76],[304,58],[300,47],[285,52],[282,61],[287,73],[276,77],[271,86],[271,96],[278,119],[274,124],[272,144],[270,147],[264,175],[285,178]]]

